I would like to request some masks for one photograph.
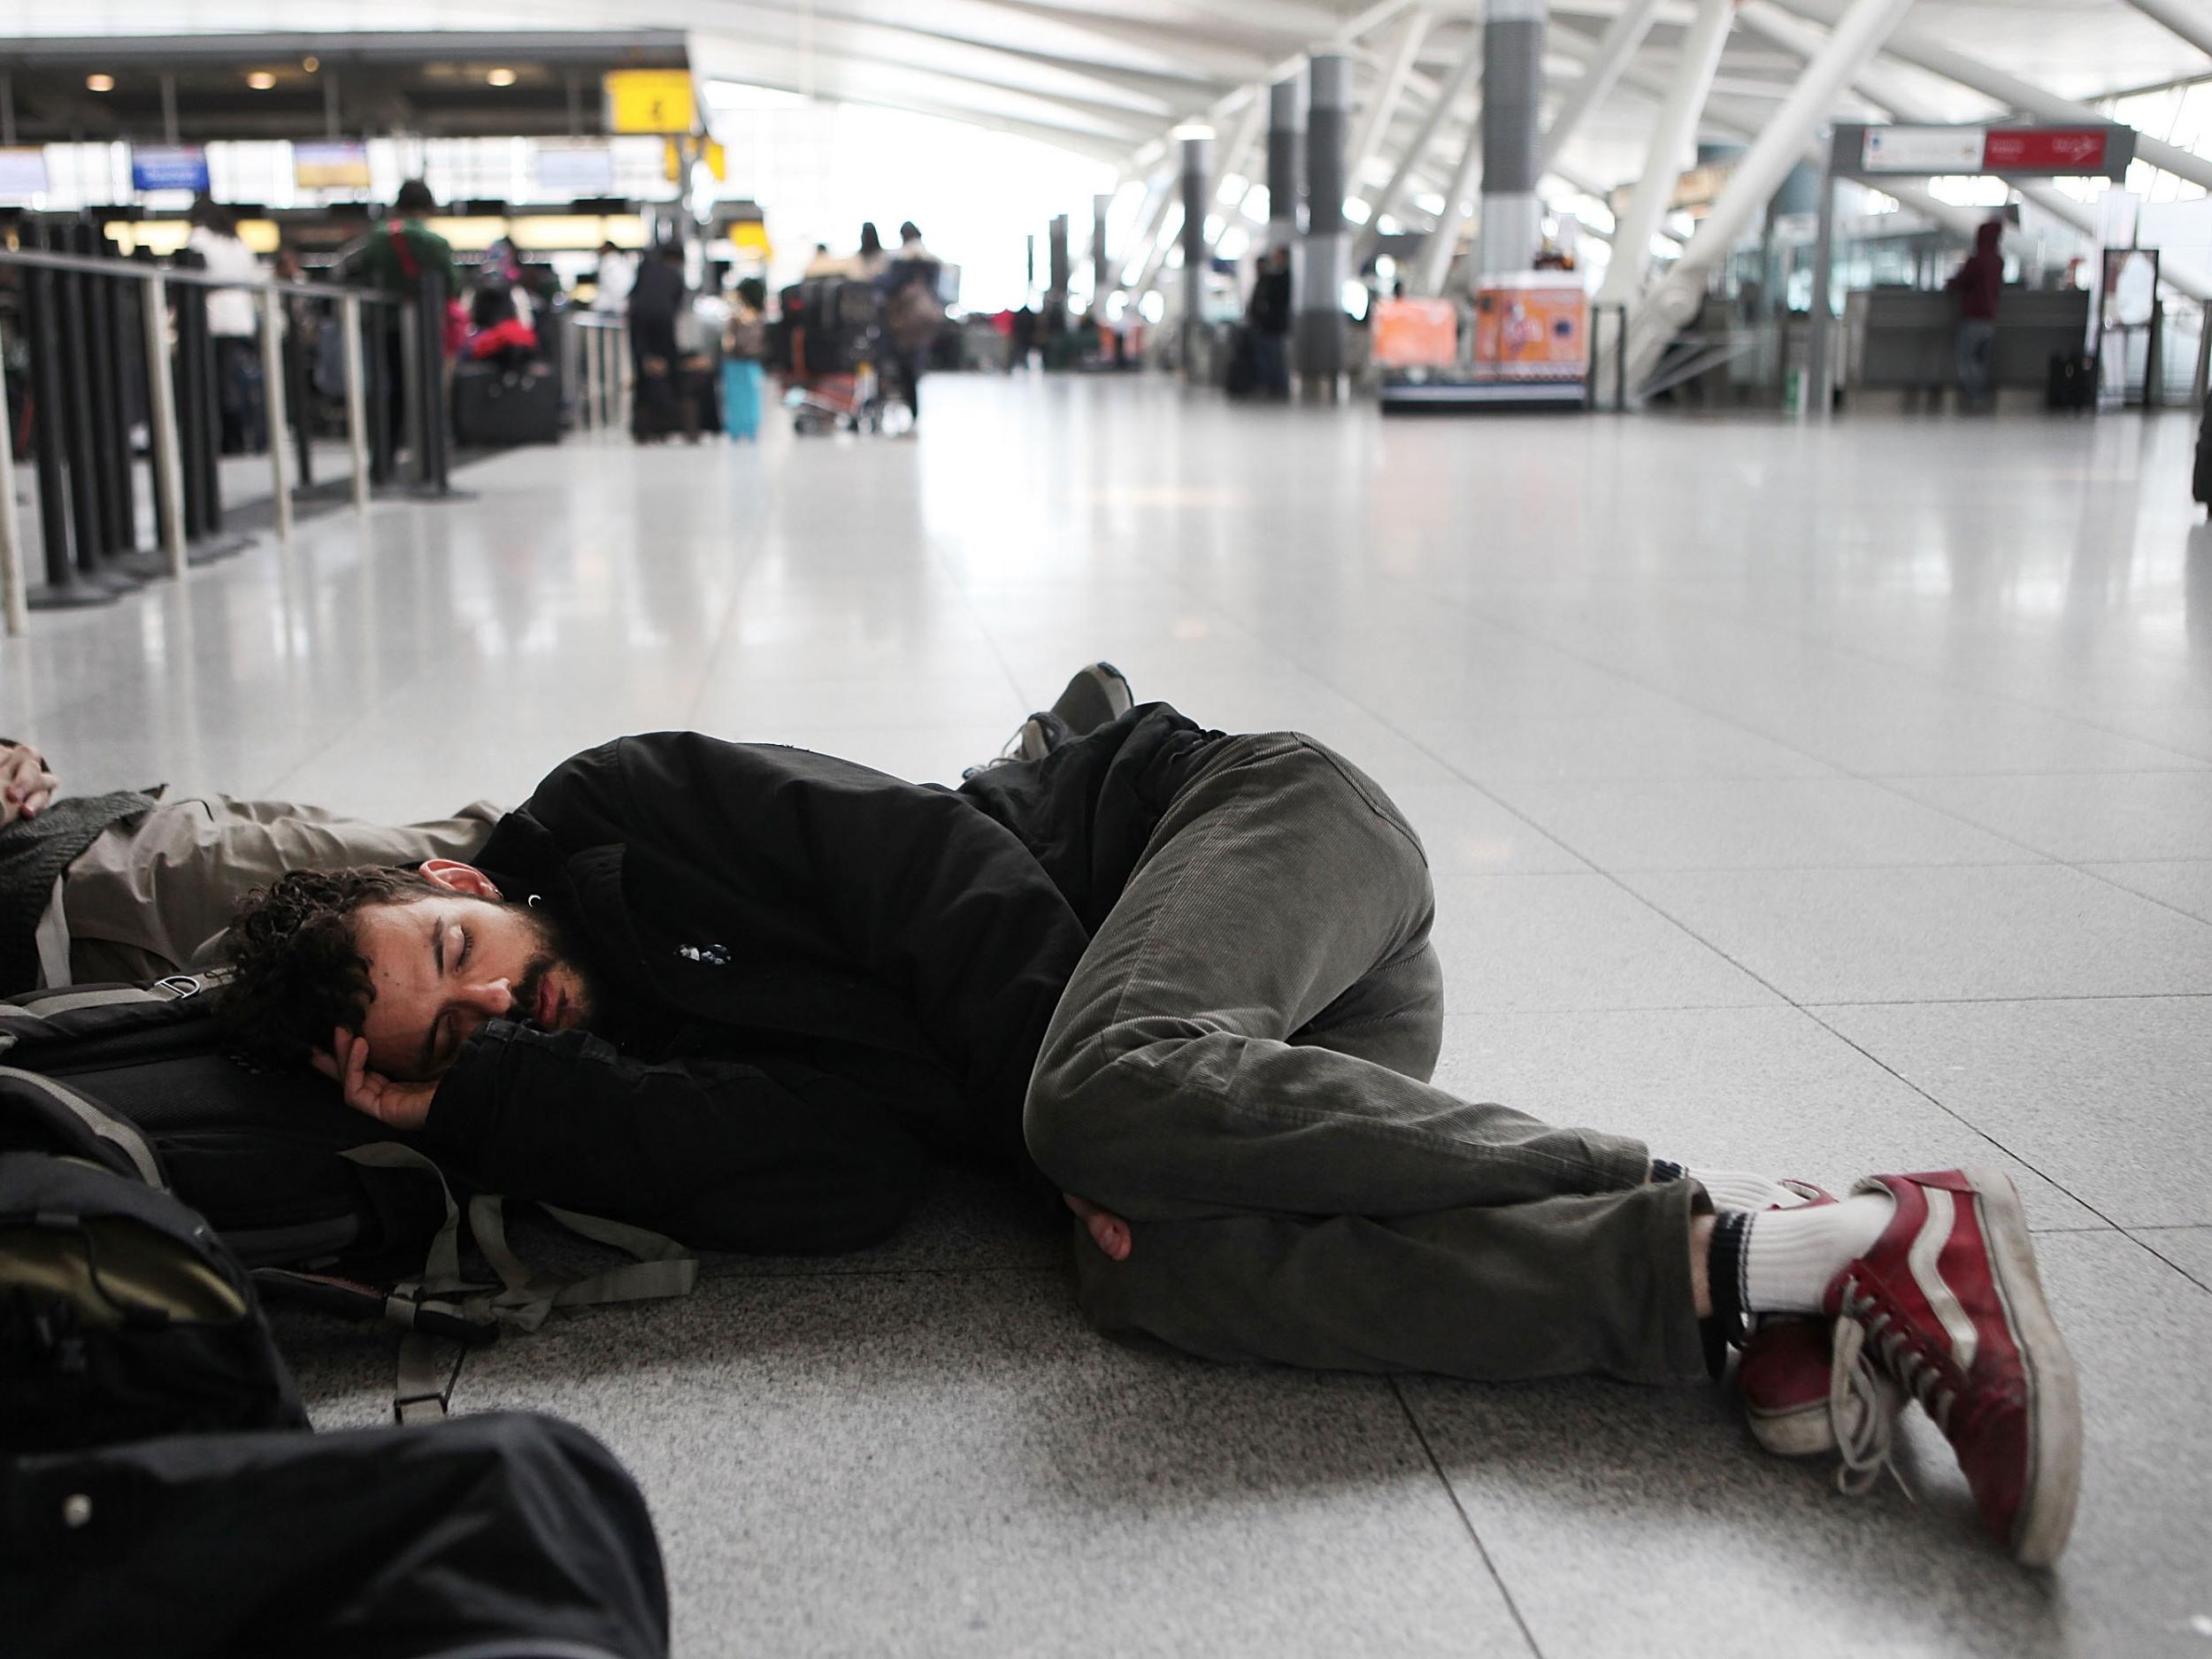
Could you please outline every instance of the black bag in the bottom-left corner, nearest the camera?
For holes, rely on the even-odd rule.
[[[0,1467],[22,1659],[666,1659],[653,1515],[582,1429],[219,1433]]]

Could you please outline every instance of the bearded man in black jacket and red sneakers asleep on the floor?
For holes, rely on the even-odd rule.
[[[615,739],[469,858],[259,887],[221,1009],[460,1172],[695,1245],[867,1243],[967,1148],[1066,1194],[1099,1327],[1192,1354],[1686,1383],[1745,1345],[1761,1438],[1858,1462],[1911,1394],[2055,1559],[2079,1400],[2006,1177],[1834,1201],[1438,1091],[1433,916],[1356,765],[1099,664],[960,790]]]

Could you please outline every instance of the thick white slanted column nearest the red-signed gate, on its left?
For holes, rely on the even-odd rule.
[[[1628,385],[1635,387],[1659,363],[1677,330],[1697,314],[1705,279],[1719,265],[1736,237],[1765,208],[1767,197],[1805,155],[1812,135],[1827,122],[1829,108],[1849,80],[1882,49],[1889,31],[1911,11],[1913,0],[1854,0],[1820,53],[1805,64],[1790,97],[1767,119],[1752,148],[1743,153],[1734,175],[1699,223],[1681,259],[1657,288],[1630,312]],[[1615,246],[1615,259],[1626,252]]]

